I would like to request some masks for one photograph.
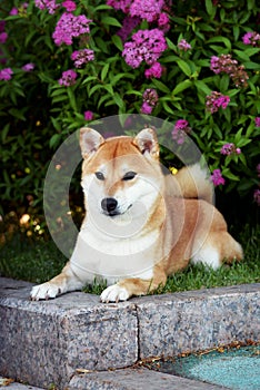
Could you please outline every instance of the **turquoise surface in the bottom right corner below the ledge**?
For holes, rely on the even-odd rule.
[[[177,358],[157,363],[156,369],[232,390],[260,390],[260,347]]]

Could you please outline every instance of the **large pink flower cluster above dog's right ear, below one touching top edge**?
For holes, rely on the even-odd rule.
[[[138,68],[142,61],[153,65],[166,49],[161,30],[139,30],[133,33],[132,41],[124,43],[122,56],[130,67]]]

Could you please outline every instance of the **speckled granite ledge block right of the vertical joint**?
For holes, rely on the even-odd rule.
[[[259,340],[259,284],[147,296],[137,306],[140,358]]]

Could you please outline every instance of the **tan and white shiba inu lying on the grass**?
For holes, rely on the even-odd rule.
[[[210,203],[212,186],[200,165],[163,175],[153,129],[103,139],[80,130],[86,217],[62,272],[33,286],[32,300],[107,280],[102,302],[126,301],[164,285],[189,261],[213,269],[242,259],[223,216]]]

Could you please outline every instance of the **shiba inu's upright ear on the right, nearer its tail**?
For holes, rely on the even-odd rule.
[[[160,147],[156,131],[152,128],[144,128],[138,133],[133,143],[143,155],[149,154],[152,158],[159,158]]]

